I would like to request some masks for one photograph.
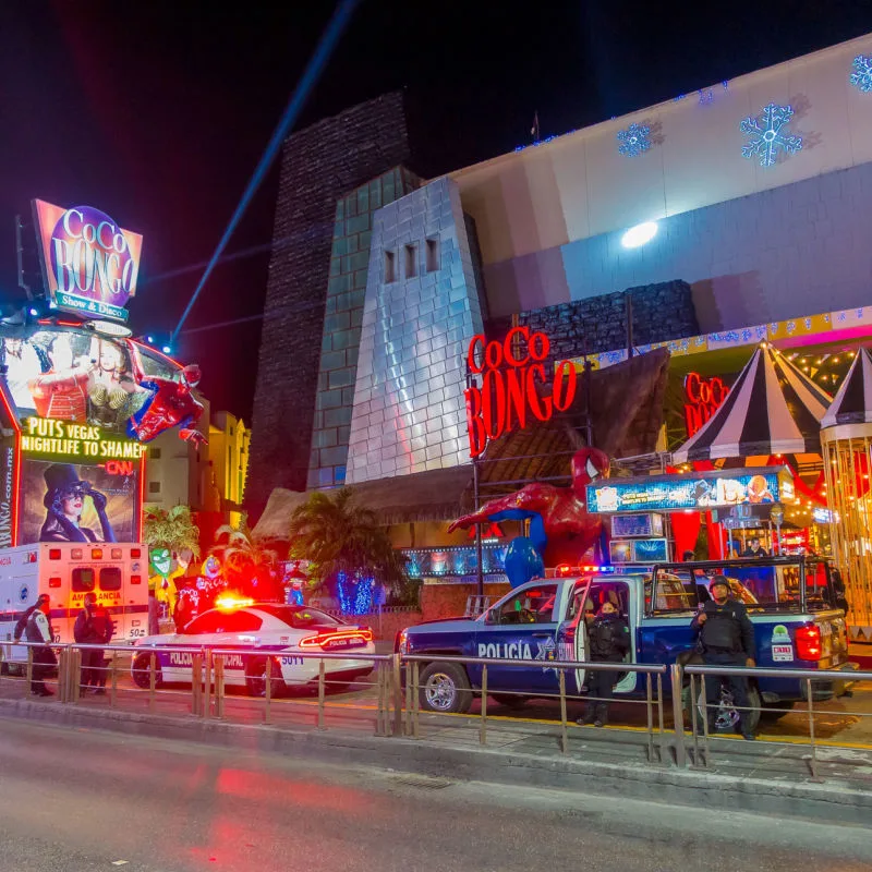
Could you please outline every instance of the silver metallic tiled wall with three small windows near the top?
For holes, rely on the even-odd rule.
[[[460,195],[439,179],[375,215],[350,484],[468,462],[464,353],[481,331]]]

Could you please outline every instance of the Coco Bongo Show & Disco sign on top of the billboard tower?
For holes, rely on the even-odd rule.
[[[143,238],[93,206],[63,209],[34,201],[39,253],[56,308],[85,318],[126,320],[136,293]]]

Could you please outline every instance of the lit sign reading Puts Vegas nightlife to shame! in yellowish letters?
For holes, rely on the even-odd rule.
[[[107,471],[111,473],[113,461],[138,460],[148,446],[107,434],[97,426],[32,416],[24,422],[21,448],[32,456],[108,460]]]

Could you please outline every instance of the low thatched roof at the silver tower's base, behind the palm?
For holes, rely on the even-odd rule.
[[[358,502],[385,525],[409,521],[446,521],[472,509],[472,467],[427,470],[414,475],[377,479],[349,485]],[[291,516],[307,493],[277,487],[254,528],[257,536],[287,540]]]

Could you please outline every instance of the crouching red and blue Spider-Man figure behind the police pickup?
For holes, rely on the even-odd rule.
[[[467,529],[487,521],[530,521],[530,535],[512,540],[506,553],[505,568],[513,588],[544,572],[545,549],[549,541],[559,547],[561,557],[567,546],[576,559],[592,546],[601,544],[603,521],[588,513],[586,486],[600,477],[608,477],[608,457],[597,448],[582,448],[572,456],[572,486],[555,487],[536,482],[486,502],[477,512],[464,514],[449,528]]]

